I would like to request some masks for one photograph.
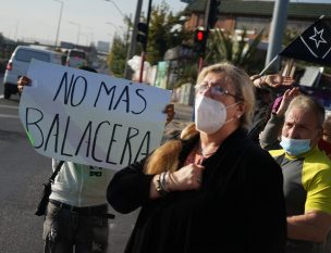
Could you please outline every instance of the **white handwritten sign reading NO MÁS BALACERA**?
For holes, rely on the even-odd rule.
[[[169,90],[35,60],[27,76],[20,118],[38,153],[120,169],[160,144]]]

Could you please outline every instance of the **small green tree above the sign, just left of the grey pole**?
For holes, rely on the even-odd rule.
[[[123,77],[125,69],[127,46],[123,39],[119,36],[115,36],[112,41],[111,51],[108,55],[107,62],[110,68],[110,72],[115,77]]]

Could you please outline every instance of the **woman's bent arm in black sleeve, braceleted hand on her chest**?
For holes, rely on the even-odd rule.
[[[135,163],[118,172],[110,181],[107,199],[120,213],[130,213],[149,201],[162,198],[172,191],[197,190],[201,184],[204,166],[189,164],[164,178],[167,192],[159,191],[161,174],[146,175],[144,164]]]

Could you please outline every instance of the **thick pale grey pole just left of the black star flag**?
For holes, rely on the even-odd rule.
[[[283,33],[287,21],[289,0],[275,0],[272,22],[269,33],[268,52],[266,58],[266,66],[272,62],[270,67],[273,72],[279,71],[280,62],[275,56],[282,51]]]

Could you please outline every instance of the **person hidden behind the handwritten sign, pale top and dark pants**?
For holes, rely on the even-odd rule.
[[[81,67],[96,72],[89,67]],[[22,76],[19,92],[29,85]],[[53,168],[60,161],[52,161]],[[64,162],[52,184],[52,192],[44,222],[45,253],[108,252],[107,186],[110,169]]]

